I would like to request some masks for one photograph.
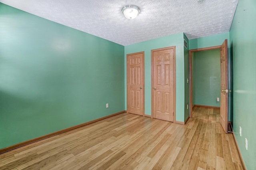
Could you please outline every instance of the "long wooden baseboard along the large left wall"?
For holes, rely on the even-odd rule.
[[[2,148],[2,149],[0,149],[0,154],[2,154],[2,153],[4,153],[4,152],[8,152],[8,151],[10,151],[10,150],[14,150],[14,149],[16,149],[16,148],[20,148],[20,147],[25,146],[25,145],[28,145],[28,144],[32,144],[32,143],[37,142],[37,141],[39,141],[39,140],[43,140],[43,139],[46,139],[46,138],[50,138],[50,137],[52,137],[52,136],[55,136],[55,135],[58,135],[58,134],[62,134],[62,133],[64,133],[64,132],[68,132],[68,131],[74,130],[74,129],[76,129],[76,128],[80,128],[80,127],[82,127],[82,126],[86,126],[86,125],[88,125],[88,124],[92,124],[92,123],[94,123],[94,122],[98,122],[98,121],[103,120],[103,119],[106,119],[106,118],[110,118],[110,117],[112,117],[112,116],[116,116],[116,115],[121,114],[121,113],[124,113],[124,112],[125,112],[125,110],[124,110],[124,111],[121,111],[121,112],[114,113],[114,114],[110,114],[110,115],[108,115],[108,116],[104,116],[104,117],[102,117],[102,118],[98,118],[98,119],[95,119],[95,120],[91,120],[91,121],[85,122],[85,123],[83,123],[83,124],[78,124],[78,125],[72,126],[72,127],[70,127],[70,128],[66,128],[66,129],[63,129],[63,130],[59,130],[59,131],[53,132],[53,133],[51,133],[51,134],[47,134],[47,135],[44,135],[44,136],[40,136],[40,137],[38,137],[38,138],[34,138],[34,139],[30,139],[30,140],[27,140],[27,141],[24,141],[24,142],[20,142],[20,143],[18,143],[18,144],[14,144],[14,145],[8,146],[8,147],[6,147],[6,148]]]

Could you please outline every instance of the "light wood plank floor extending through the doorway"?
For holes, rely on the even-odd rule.
[[[219,110],[193,117],[184,126],[119,114],[0,154],[0,170],[242,170]]]

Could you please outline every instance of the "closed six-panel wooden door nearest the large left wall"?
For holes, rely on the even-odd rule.
[[[144,52],[126,55],[127,112],[144,115]]]

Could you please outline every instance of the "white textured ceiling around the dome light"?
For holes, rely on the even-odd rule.
[[[188,39],[228,32],[238,0],[0,0],[36,16],[129,45],[184,32]],[[121,13],[133,4],[134,20]]]

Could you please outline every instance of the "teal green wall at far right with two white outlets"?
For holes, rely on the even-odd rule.
[[[240,0],[230,28],[233,130],[247,170],[256,170],[256,1]],[[242,136],[239,135],[239,126]],[[248,150],[245,149],[245,138]]]

